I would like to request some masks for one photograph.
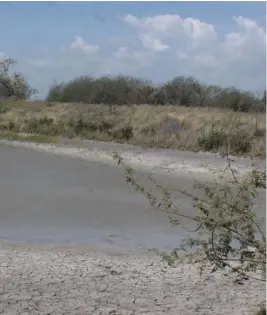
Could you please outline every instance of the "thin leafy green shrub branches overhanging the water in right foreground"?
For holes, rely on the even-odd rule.
[[[226,157],[234,178],[233,183],[197,183],[194,185],[195,192],[200,191],[202,197],[193,195],[186,189],[175,190],[193,199],[195,215],[188,215],[174,203],[170,190],[149,176],[161,194],[160,198],[155,197],[137,182],[136,171],[126,165],[117,153],[113,155],[124,168],[126,181],[141,192],[153,208],[167,214],[173,225],[187,230],[183,219],[194,223],[195,229],[189,232],[197,233],[196,237],[183,240],[181,246],[170,254],[157,251],[169,265],[179,258],[177,251],[194,248],[203,258],[200,264],[201,271],[208,267],[212,267],[212,271],[228,267],[238,275],[239,280],[252,277],[250,272],[260,271],[262,278],[253,277],[265,281],[266,236],[262,227],[264,220],[257,219],[253,205],[257,189],[266,189],[266,171],[254,170],[245,179],[239,180],[231,166],[228,152]]]

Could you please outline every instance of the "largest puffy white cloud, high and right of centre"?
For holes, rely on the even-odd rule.
[[[170,49],[172,51],[176,49],[178,52],[177,46],[181,46],[183,52],[180,53],[183,54],[187,51],[199,50],[207,42],[217,39],[213,25],[193,18],[182,19],[179,15],[166,14],[138,18],[128,14],[122,18],[122,21],[136,28],[137,39],[142,43],[133,55],[149,55],[151,63],[156,53],[167,52]]]

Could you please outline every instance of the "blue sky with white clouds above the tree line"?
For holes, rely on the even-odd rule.
[[[0,58],[40,99],[81,75],[266,86],[265,2],[0,2],[0,16]]]

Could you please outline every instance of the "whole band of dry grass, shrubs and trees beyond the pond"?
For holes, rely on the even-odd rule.
[[[256,97],[184,77],[161,86],[123,76],[81,77],[51,87],[46,102],[29,102],[36,91],[23,75],[11,71],[14,63],[12,59],[0,63],[4,134],[222,152],[231,129],[228,141],[233,154],[265,156],[266,122],[261,111],[266,93]]]

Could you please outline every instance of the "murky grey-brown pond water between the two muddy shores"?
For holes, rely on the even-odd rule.
[[[118,167],[6,145],[0,145],[0,160],[2,240],[171,249],[185,236],[125,183]],[[158,178],[174,182],[168,175]],[[190,187],[192,180],[175,184]],[[190,212],[190,199],[177,197]],[[263,198],[257,203],[261,214]]]

